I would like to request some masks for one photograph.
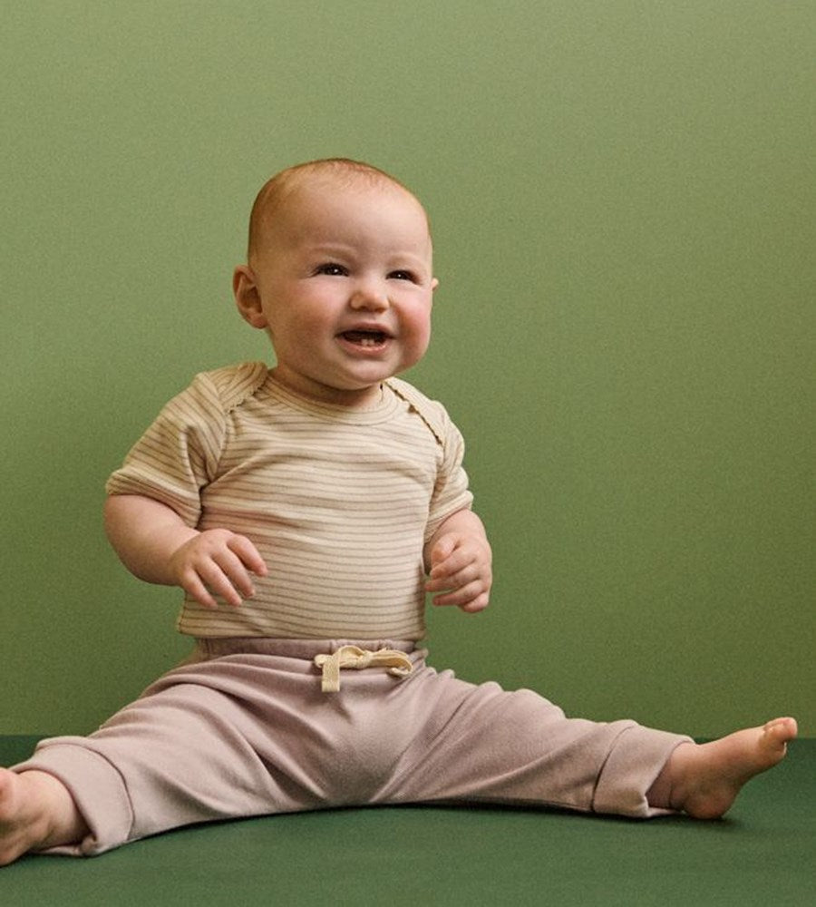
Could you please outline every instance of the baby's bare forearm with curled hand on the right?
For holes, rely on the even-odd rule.
[[[425,589],[440,592],[434,605],[456,605],[474,613],[488,606],[493,576],[492,552],[484,526],[470,510],[452,513],[425,545],[428,581]]]

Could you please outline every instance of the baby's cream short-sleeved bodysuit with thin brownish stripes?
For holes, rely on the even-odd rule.
[[[318,404],[261,363],[198,375],[112,474],[200,530],[248,536],[269,569],[216,611],[186,600],[202,637],[422,639],[423,543],[471,505],[463,443],[442,405],[392,379],[379,404]]]

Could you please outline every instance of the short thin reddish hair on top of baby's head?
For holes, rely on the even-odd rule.
[[[249,215],[248,260],[255,257],[264,228],[275,210],[298,186],[315,177],[326,177],[336,185],[344,187],[354,185],[360,180],[369,185],[390,183],[415,198],[413,192],[400,180],[364,161],[352,161],[349,158],[324,158],[319,161],[296,164],[294,167],[288,167],[287,170],[276,173],[257,193],[252,212]]]

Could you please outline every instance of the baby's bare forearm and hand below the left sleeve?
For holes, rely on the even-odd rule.
[[[112,494],[105,502],[105,531],[113,549],[141,580],[180,586],[205,608],[238,607],[254,594],[250,572],[267,565],[246,536],[227,529],[199,532],[166,504],[139,494]]]

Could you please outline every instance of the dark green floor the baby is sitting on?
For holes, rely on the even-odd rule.
[[[0,737],[0,763],[34,737]],[[3,907],[85,904],[816,903],[816,740],[720,822],[400,807],[184,829],[91,860],[0,869]]]

